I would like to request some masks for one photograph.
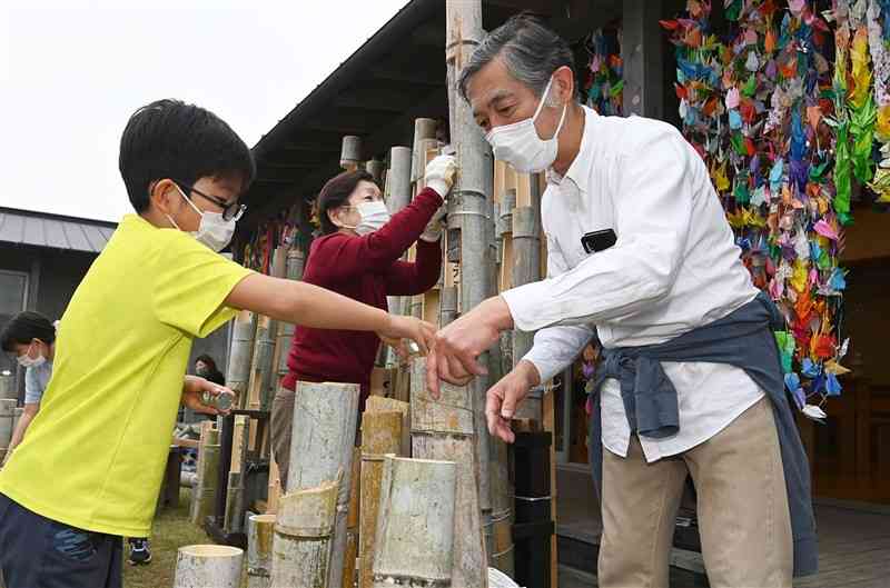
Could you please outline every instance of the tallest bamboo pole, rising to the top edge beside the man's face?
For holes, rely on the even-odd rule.
[[[452,189],[448,221],[449,228],[459,228],[461,231],[461,311],[466,312],[494,293],[491,283],[493,260],[488,247],[490,235],[493,235],[490,225],[494,165],[488,143],[457,88],[464,64],[485,36],[482,0],[446,0],[445,23],[451,139],[461,170]],[[459,219],[459,227],[452,227],[453,219]],[[479,361],[485,365],[488,360],[483,355]],[[488,378],[477,377],[469,385],[473,410],[477,415],[475,440],[483,519],[488,519],[492,511],[490,449],[484,418],[485,392],[490,383]]]

